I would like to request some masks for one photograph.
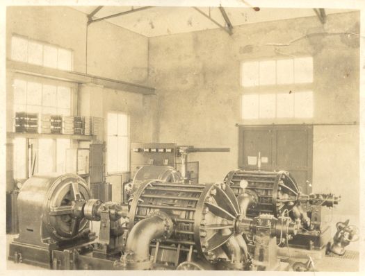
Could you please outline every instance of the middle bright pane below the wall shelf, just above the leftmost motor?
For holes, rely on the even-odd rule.
[[[47,174],[54,171],[54,140],[38,140],[38,173]]]

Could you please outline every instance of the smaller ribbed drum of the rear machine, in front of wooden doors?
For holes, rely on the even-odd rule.
[[[260,214],[273,214],[275,217],[289,212],[293,202],[298,200],[300,187],[293,175],[287,171],[230,171],[225,183],[234,194],[250,193],[254,204],[250,205],[246,216],[254,218]]]

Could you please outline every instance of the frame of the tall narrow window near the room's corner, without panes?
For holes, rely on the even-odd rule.
[[[109,126],[109,120],[108,120],[108,115],[109,114],[117,114],[117,117],[119,114],[123,114],[127,116],[127,135],[109,135],[108,133],[108,126]],[[118,123],[117,123],[118,124]],[[121,111],[108,111],[106,113],[106,143],[108,143],[108,138],[109,137],[127,137],[127,170],[126,171],[109,171],[109,167],[108,167],[108,154],[109,154],[109,145],[106,145],[106,173],[107,175],[122,175],[122,173],[129,173],[129,171],[131,171],[130,169],[130,155],[131,155],[131,129],[130,129],[130,125],[131,125],[131,116],[128,112],[121,112]],[[118,132],[118,130],[117,130]]]

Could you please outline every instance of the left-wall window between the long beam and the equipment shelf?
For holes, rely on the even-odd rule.
[[[15,112],[38,114],[72,114],[70,87],[35,83],[21,79],[14,80]]]

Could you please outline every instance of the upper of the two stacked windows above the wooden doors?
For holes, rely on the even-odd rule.
[[[313,83],[313,58],[290,58],[243,62],[242,86]]]

